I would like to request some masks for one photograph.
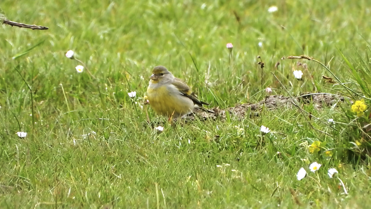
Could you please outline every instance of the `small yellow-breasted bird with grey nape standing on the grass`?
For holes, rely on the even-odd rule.
[[[175,78],[164,66],[152,70],[147,99],[158,115],[177,119],[192,112],[195,105],[209,105],[197,99],[188,85]]]

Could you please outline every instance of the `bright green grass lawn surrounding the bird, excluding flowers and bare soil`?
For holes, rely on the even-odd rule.
[[[363,125],[349,113],[349,101],[320,110],[300,106],[319,120],[280,107],[259,117],[176,128],[145,106],[151,121],[165,126],[161,134],[139,106],[156,65],[186,80],[211,107],[257,102],[258,55],[265,63],[263,89],[272,87],[273,94],[297,96],[316,87],[370,98],[370,77],[362,77],[369,72],[368,1],[202,4],[1,2],[8,19],[49,30],[0,26],[0,208],[368,208],[370,157],[350,151]],[[268,13],[272,5],[278,11]],[[65,57],[70,49],[93,76],[76,72],[79,63]],[[281,58],[302,54],[324,63],[355,93],[325,83],[322,75],[332,75],[313,61],[300,60],[309,71],[295,80],[298,60]],[[137,92],[137,104],[130,91]],[[262,147],[261,125],[272,129]],[[27,137],[18,138],[18,131]],[[313,141],[326,146],[311,154],[306,143]],[[325,149],[333,149],[332,157]],[[322,167],[313,174],[302,158]],[[308,176],[298,181],[301,167]],[[348,196],[327,176],[332,167]]]

